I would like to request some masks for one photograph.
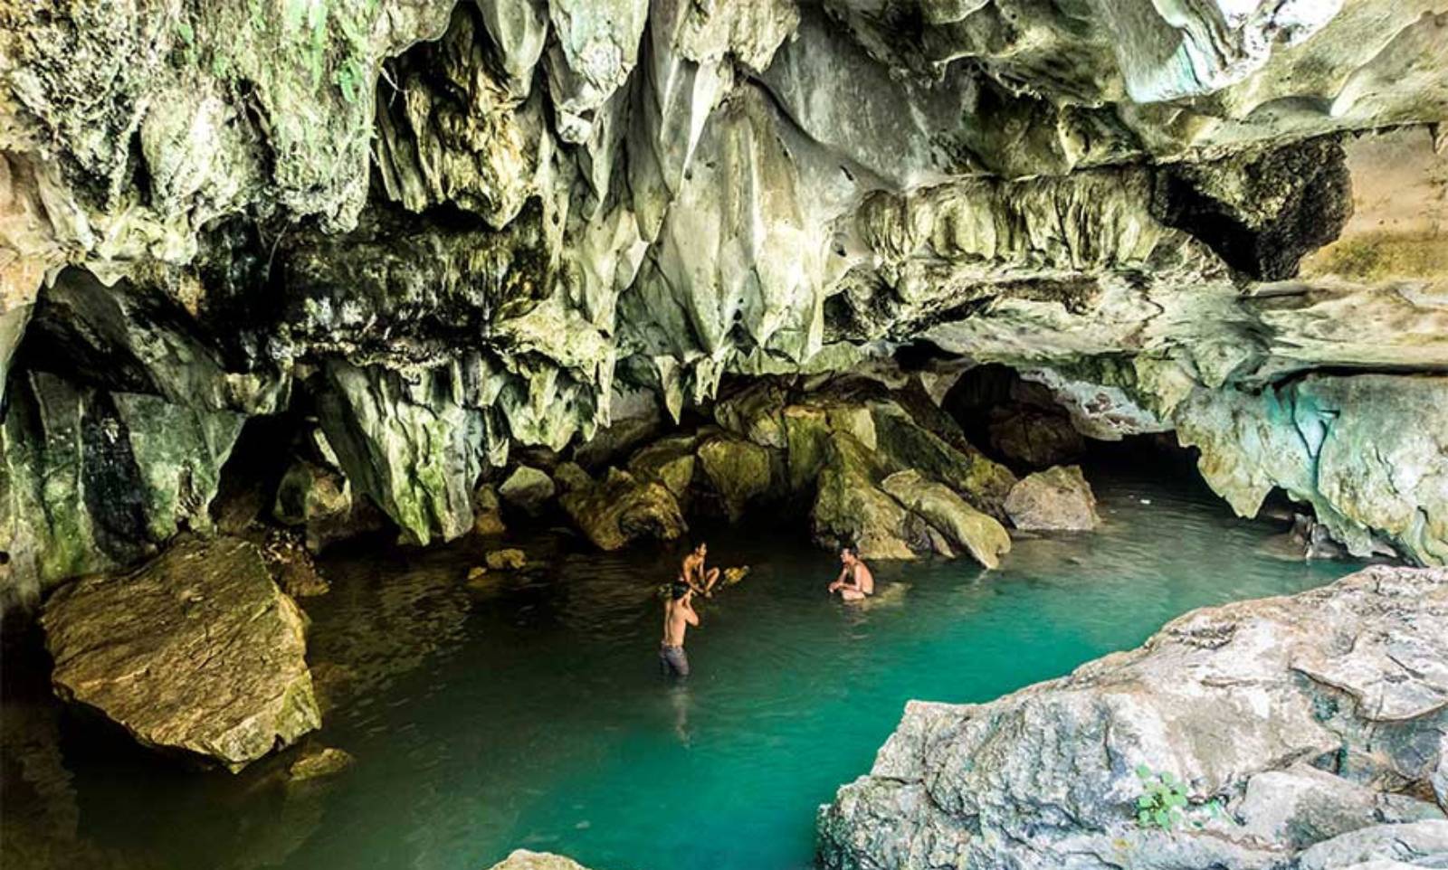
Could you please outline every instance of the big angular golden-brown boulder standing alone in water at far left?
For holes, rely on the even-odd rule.
[[[321,725],[304,617],[248,541],[188,540],[78,580],[41,624],[55,693],[145,746],[240,770]]]

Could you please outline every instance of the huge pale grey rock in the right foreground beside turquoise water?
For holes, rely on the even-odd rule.
[[[1448,819],[1420,798],[1448,727],[1444,625],[1448,570],[1380,566],[1193,611],[989,704],[912,701],[870,774],[821,808],[821,864],[1284,870],[1441,856]],[[1179,816],[1142,824],[1144,806]]]

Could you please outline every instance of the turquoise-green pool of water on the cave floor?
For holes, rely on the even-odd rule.
[[[798,537],[711,531],[714,563],[753,572],[699,604],[685,685],[656,670],[656,585],[681,547],[562,544],[549,570],[482,588],[463,582],[475,544],[332,556],[333,592],[306,602],[329,698],[314,740],[350,770],[180,770],[12,679],[4,864],[482,870],[527,847],[598,870],[807,867],[815,808],[906,699],[990,699],[1187,609],[1355,567],[1284,557],[1274,527],[1195,483],[1096,489],[1100,531],[1018,540],[996,572],[882,563],[866,607],[825,595],[837,563]]]

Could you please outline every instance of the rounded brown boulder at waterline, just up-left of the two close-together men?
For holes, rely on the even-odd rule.
[[[563,494],[559,504],[601,550],[618,550],[637,539],[673,540],[688,528],[663,483],[615,468],[602,481]]]

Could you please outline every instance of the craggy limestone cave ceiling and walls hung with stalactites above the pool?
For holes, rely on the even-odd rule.
[[[586,442],[617,392],[679,417],[724,376],[921,340],[1109,394],[1076,402],[1108,436],[1211,444],[1250,512],[1237,481],[1300,476],[1245,434],[1297,426],[1283,395],[1341,385],[1339,421],[1383,427],[1352,444],[1441,427],[1403,397],[1448,371],[1445,119],[1442,0],[7,6],[4,582],[127,560],[56,549],[109,523],[64,479],[139,494],[117,540],[204,525],[232,421],[303,394],[426,543],[471,527],[482,469]],[[36,382],[80,410],[39,414]],[[188,423],[70,450],[129,395]],[[1348,507],[1302,463],[1358,549],[1444,560],[1436,470],[1364,472],[1393,497]]]

